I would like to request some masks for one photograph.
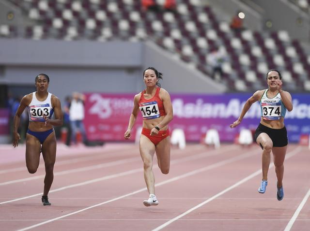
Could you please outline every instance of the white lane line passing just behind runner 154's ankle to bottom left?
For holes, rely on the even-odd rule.
[[[245,159],[245,158],[254,156],[254,155],[258,154],[258,153],[260,153],[260,151],[259,151],[259,152],[258,152],[258,151],[255,152],[255,151],[251,150],[251,151],[249,151],[249,152],[247,152],[247,153],[245,153],[245,154],[242,154],[242,155],[239,155],[239,156],[235,156],[235,157],[232,157],[232,158],[230,158],[230,159],[222,160],[222,161],[219,161],[219,162],[217,162],[217,163],[215,163],[215,164],[212,164],[212,165],[209,165],[209,166],[206,166],[206,167],[203,167],[203,168],[200,168],[200,169],[197,169],[197,170],[194,170],[194,171],[191,171],[191,172],[188,172],[188,173],[185,173],[185,174],[182,174],[182,175],[173,177],[173,178],[168,179],[168,180],[166,180],[166,181],[157,183],[157,184],[155,184],[155,187],[158,187],[158,186],[161,186],[161,185],[165,185],[165,184],[171,183],[171,182],[173,182],[173,181],[177,181],[177,180],[179,180],[179,179],[186,178],[186,177],[188,177],[188,176],[191,176],[191,175],[194,175],[194,174],[197,174],[197,173],[202,173],[202,172],[204,172],[204,171],[207,171],[207,170],[210,170],[210,169],[214,169],[214,168],[223,166],[223,165],[228,164],[228,163],[232,163],[232,162],[234,162],[234,161],[236,161],[236,160]],[[86,211],[86,210],[89,210],[89,209],[98,207],[98,206],[100,206],[100,205],[107,204],[107,203],[109,203],[109,202],[114,202],[114,201],[123,199],[123,198],[125,198],[125,197],[128,197],[128,196],[131,196],[131,195],[140,193],[140,192],[142,192],[142,191],[144,191],[144,190],[146,190],[146,189],[147,189],[146,187],[145,187],[145,188],[141,188],[141,189],[136,190],[136,191],[134,191],[134,192],[131,192],[131,193],[122,195],[122,196],[120,196],[120,197],[111,199],[111,200],[109,200],[109,201],[101,202],[101,203],[98,203],[98,204],[95,204],[95,205],[86,207],[86,208],[84,208],[84,209],[81,209],[81,210],[78,210],[78,211],[75,211],[75,212],[72,212],[72,213],[63,215],[63,216],[61,216],[61,217],[55,217],[55,218],[53,218],[53,219],[50,219],[50,220],[47,220],[47,221],[44,221],[44,222],[41,222],[41,223],[38,223],[38,224],[35,224],[35,225],[29,226],[29,227],[25,227],[25,228],[20,229],[20,230],[18,230],[18,231],[30,230],[30,229],[36,228],[36,227],[38,227],[38,226],[41,226],[41,225],[44,225],[44,224],[53,222],[53,221],[55,221],[55,220],[59,220],[59,219],[62,219],[62,218],[64,218],[64,217],[69,217],[69,216],[71,216],[71,215],[78,214],[78,213],[80,213],[80,212],[83,212],[83,211]]]

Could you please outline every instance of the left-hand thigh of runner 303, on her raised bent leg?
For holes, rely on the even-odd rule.
[[[31,134],[26,135],[26,164],[38,168],[40,162],[41,143]]]

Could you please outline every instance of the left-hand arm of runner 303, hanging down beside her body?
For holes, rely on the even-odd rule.
[[[20,140],[20,135],[17,132],[19,123],[20,123],[20,116],[24,112],[25,108],[29,105],[31,101],[30,98],[31,98],[31,95],[26,95],[21,99],[20,104],[17,108],[16,114],[13,119],[13,139],[12,139],[13,142],[12,144],[14,147],[18,146],[18,141]]]

